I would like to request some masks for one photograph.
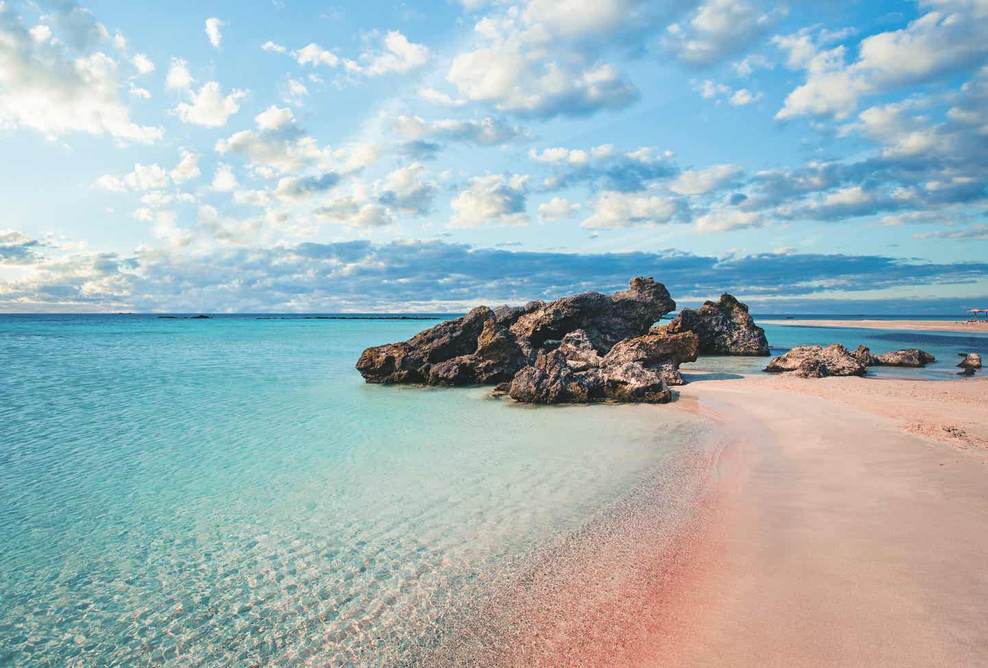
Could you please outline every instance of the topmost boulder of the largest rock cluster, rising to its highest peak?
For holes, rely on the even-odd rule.
[[[647,333],[653,323],[675,308],[676,302],[665,286],[637,278],[631,280],[629,290],[611,295],[584,292],[550,301],[519,317],[511,331],[541,348],[546,341],[558,341],[582,329],[594,348],[605,354],[618,341]]]

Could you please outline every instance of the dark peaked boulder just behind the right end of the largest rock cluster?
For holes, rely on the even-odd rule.
[[[700,337],[701,355],[770,355],[765,330],[748,314],[747,304],[732,294],[721,294],[717,301],[706,301],[698,309],[684,308],[656,331],[695,332]]]

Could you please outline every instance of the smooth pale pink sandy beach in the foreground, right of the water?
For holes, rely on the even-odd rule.
[[[749,376],[680,401],[736,432],[695,584],[637,665],[988,665],[988,378]]]

